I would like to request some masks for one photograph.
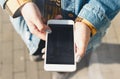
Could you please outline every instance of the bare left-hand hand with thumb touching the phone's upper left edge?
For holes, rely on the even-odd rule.
[[[26,3],[21,8],[21,14],[24,17],[31,33],[45,40],[46,30],[50,28],[43,23],[41,13],[36,4],[33,2]]]

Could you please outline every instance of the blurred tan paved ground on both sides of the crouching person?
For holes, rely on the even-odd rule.
[[[78,63],[68,79],[118,79],[120,74],[120,13],[102,44]],[[0,7],[0,79],[52,79],[42,62],[29,60],[28,49]]]

